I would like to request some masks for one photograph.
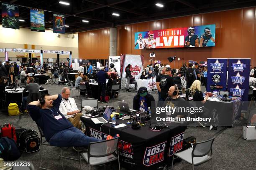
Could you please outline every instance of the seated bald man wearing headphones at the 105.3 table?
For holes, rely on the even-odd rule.
[[[164,102],[164,106],[167,107],[187,107],[185,100],[179,96],[179,89],[176,85],[173,85],[169,88],[168,96]],[[183,110],[182,110],[183,111]],[[170,112],[166,112],[166,115],[171,117],[184,117],[186,115],[185,112],[173,112],[173,110],[170,110]]]

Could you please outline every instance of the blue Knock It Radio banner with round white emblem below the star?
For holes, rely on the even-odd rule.
[[[227,58],[207,59],[207,92],[226,90],[227,85]]]

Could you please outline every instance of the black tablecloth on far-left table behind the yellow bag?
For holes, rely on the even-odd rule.
[[[44,90],[40,90],[39,92],[42,93],[48,93],[48,90],[44,89]],[[5,101],[6,101],[6,106],[8,107],[8,105],[10,103],[17,103],[18,106],[21,106],[21,102],[22,102],[22,97],[28,96],[28,92],[23,93],[22,92],[17,92],[17,93],[11,93],[11,92],[5,92]]]

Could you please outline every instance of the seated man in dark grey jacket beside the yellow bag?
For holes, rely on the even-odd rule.
[[[38,93],[39,92],[39,85],[37,83],[34,82],[34,78],[33,77],[28,77],[27,78],[27,85],[25,86],[24,90],[23,90],[23,94],[28,91],[29,94],[31,93]],[[29,95],[28,94],[28,95]],[[28,100],[28,96],[25,96],[22,98],[22,110],[26,110],[26,106],[27,106],[27,100]],[[30,101],[33,99],[29,99]]]

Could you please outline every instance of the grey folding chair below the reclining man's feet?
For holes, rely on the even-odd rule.
[[[93,142],[89,144],[88,152],[80,154],[79,164],[81,170],[81,157],[88,163],[89,170],[91,166],[97,166],[118,160],[118,167],[120,170],[119,151],[118,151],[119,137],[111,140],[102,140],[100,142]],[[114,153],[117,152],[117,155]]]

